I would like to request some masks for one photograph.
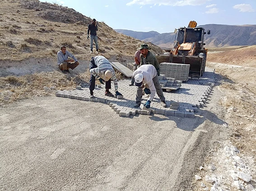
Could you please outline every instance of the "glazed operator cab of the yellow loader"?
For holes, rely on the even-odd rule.
[[[174,44],[176,42],[179,42],[179,44],[182,44],[184,42],[185,31],[186,31],[185,43],[196,42],[196,48],[198,50],[204,49],[205,29],[202,27],[186,28],[186,30],[185,30],[185,27],[180,27],[177,30]]]

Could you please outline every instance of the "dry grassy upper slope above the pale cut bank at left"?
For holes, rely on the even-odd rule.
[[[77,58],[89,60],[92,54],[86,37],[91,20],[58,4],[38,0],[1,0],[1,59],[56,58],[57,51],[64,44]],[[98,22],[98,28],[99,52],[106,58],[132,56],[142,43],[117,33],[104,22]],[[150,46],[153,52],[162,52],[159,47]]]

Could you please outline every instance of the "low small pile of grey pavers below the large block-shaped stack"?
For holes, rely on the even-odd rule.
[[[158,76],[158,79],[162,89],[166,89],[167,92],[177,90],[182,86],[182,80],[176,80],[175,78],[166,78],[163,74],[160,74],[160,76]]]

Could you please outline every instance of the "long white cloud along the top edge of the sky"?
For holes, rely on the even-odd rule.
[[[170,6],[185,6],[185,5],[201,5],[210,0],[132,0],[126,5],[132,4],[158,4],[158,5],[170,5]]]

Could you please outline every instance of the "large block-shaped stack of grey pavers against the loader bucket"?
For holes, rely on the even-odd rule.
[[[168,78],[187,81],[189,75],[189,64],[176,64],[170,62],[160,63],[160,73]]]

